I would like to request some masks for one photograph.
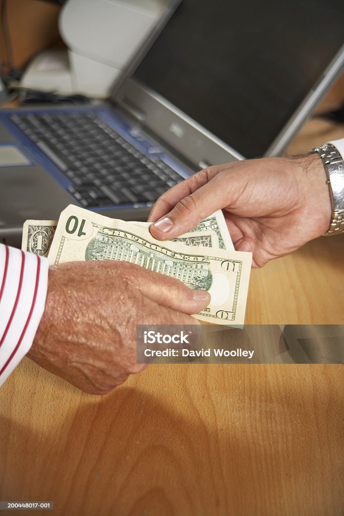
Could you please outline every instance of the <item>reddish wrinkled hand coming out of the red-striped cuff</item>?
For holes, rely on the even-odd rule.
[[[27,356],[91,394],[107,394],[136,363],[137,324],[200,324],[210,296],[138,265],[72,262],[50,268],[46,306]]]

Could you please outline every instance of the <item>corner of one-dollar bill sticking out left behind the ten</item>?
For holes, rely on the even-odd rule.
[[[47,256],[57,220],[26,220],[23,225],[22,250]]]

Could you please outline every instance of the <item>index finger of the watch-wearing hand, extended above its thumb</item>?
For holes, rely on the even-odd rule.
[[[151,209],[151,213],[147,219],[148,222],[155,222],[163,215],[169,213],[178,201],[184,199],[184,197],[189,196],[190,193],[198,190],[201,186],[208,183],[222,168],[223,166],[219,166],[201,170],[200,172],[191,175],[190,178],[186,179],[182,183],[178,183],[170,190],[163,193]]]

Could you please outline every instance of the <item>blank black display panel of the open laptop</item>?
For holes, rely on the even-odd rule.
[[[182,0],[135,77],[262,156],[344,42],[342,0]]]

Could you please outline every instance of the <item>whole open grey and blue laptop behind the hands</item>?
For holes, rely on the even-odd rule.
[[[3,109],[0,241],[70,203],[145,220],[201,168],[282,153],[343,68],[343,25],[335,0],[183,0],[108,103]]]

